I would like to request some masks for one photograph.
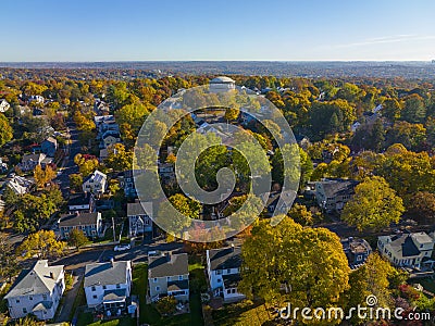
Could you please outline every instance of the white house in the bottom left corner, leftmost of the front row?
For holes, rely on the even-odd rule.
[[[13,319],[34,314],[45,321],[54,317],[64,290],[63,265],[49,266],[47,260],[41,260],[22,272],[4,299]]]

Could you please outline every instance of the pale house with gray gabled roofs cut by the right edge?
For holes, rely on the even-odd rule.
[[[377,237],[377,250],[395,266],[421,268],[433,265],[434,249],[433,234],[398,233],[390,236]]]

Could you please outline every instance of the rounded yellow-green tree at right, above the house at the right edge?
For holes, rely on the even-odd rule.
[[[355,188],[345,204],[341,218],[358,230],[381,229],[398,223],[405,208],[400,197],[382,177],[366,178]]]

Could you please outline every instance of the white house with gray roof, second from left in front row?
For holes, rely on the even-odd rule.
[[[132,290],[132,262],[110,261],[86,265],[85,294],[89,308],[112,315],[126,309]]]

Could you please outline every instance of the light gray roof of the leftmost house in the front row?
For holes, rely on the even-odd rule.
[[[25,269],[20,274],[4,299],[49,293],[54,289],[62,273],[63,265],[48,266],[47,260],[37,261],[30,269]]]

